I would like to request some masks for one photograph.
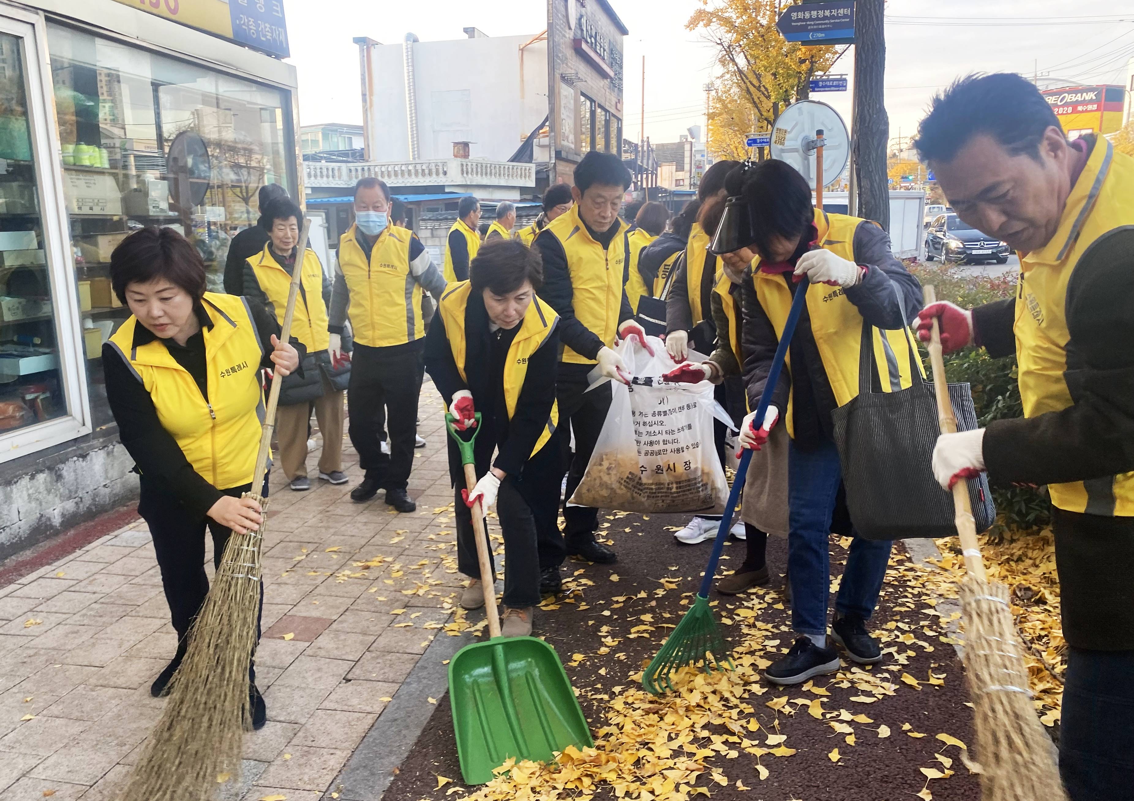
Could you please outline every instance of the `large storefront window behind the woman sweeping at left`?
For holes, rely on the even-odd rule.
[[[295,194],[288,93],[61,25],[48,26],[70,247],[95,428],[111,421],[102,343],[129,315],[110,289],[115,246],[145,226],[189,237],[223,292],[232,235],[256,194]],[[2,130],[0,130],[2,134]]]

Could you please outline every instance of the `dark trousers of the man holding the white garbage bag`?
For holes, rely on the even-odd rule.
[[[599,528],[599,511],[590,506],[567,506],[567,500],[578,488],[591,461],[594,444],[610,411],[610,383],[585,391],[590,386],[586,376],[592,364],[559,364],[556,396],[559,402],[559,425],[570,423],[575,435],[575,450],[570,449],[570,438],[564,431],[561,440],[562,467],[559,475],[567,475],[567,491],[564,495],[564,546],[569,551],[574,546],[594,539]],[[561,479],[560,479],[561,482]]]

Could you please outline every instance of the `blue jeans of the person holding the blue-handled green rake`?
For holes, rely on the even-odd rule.
[[[843,470],[835,442],[823,442],[815,450],[801,450],[795,440],[789,442],[787,565],[792,582],[792,627],[801,634],[826,634],[831,581],[831,513]],[[870,619],[889,558],[889,540],[864,540],[855,534],[835,600],[837,614]]]

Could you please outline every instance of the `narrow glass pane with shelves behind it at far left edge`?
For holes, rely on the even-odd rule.
[[[0,435],[68,411],[25,56],[0,32]]]

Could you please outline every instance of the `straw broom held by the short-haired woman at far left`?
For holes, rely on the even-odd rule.
[[[280,342],[287,342],[291,332],[310,227],[305,219]],[[226,774],[234,781],[239,774],[244,732],[252,727],[248,666],[256,650],[260,547],[268,530],[268,499],[260,496],[260,482],[268,470],[281,379],[278,371],[272,377],[252,491],[245,494],[260,504],[263,522],[256,531],[229,537],[212,588],[189,630],[166,709],[121,801],[209,801],[218,783],[228,781]]]

